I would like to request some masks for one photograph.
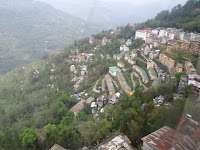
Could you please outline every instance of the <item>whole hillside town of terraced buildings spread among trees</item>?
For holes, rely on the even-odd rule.
[[[110,34],[116,33],[112,31]],[[144,43],[138,48],[131,49],[135,40],[143,40]],[[156,87],[162,82],[168,82],[176,73],[185,72],[181,76],[177,93],[173,94],[174,100],[184,97],[183,89],[187,85],[194,85],[196,93],[199,92],[200,75],[193,65],[200,53],[199,34],[186,33],[176,28],[146,28],[137,30],[135,39],[118,39],[118,41],[121,44],[118,48],[119,53],[112,56],[99,52],[101,47],[112,43],[112,40],[107,37],[102,39],[91,37],[88,41],[89,44],[97,43],[97,45],[94,45],[94,49],[90,53],[80,53],[76,49],[76,55],[70,56],[72,65],[69,69],[74,73],[72,82],[74,82],[75,90],[88,76],[88,67],[85,65],[87,61],[92,61],[99,55],[100,59],[112,60],[115,64],[109,66],[107,74],[96,81],[91,89],[93,94],[91,91],[85,90],[72,95],[80,100],[71,108],[72,112],[80,112],[86,102],[91,105],[93,116],[98,118],[98,112],[104,112],[107,103],[109,105],[118,103],[122,93],[133,95],[138,87],[142,87],[143,90]],[[181,55],[174,57],[177,52],[180,52]],[[94,95],[94,97],[90,95]],[[154,103],[157,107],[163,104],[169,105],[162,95],[155,97]]]

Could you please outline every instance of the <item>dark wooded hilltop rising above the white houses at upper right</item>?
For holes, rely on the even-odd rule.
[[[200,32],[200,1],[188,0],[184,6],[177,5],[171,11],[164,10],[143,25],[148,27],[176,27],[190,32]]]

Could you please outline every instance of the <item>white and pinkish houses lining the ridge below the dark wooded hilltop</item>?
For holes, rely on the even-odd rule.
[[[183,32],[176,28],[146,28],[138,30],[135,34],[136,39],[143,39],[146,44],[157,47],[161,44],[169,44],[168,49],[184,49],[191,52],[200,52],[198,42],[200,34]]]

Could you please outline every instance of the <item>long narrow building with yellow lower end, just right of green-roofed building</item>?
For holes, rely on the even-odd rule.
[[[121,72],[117,74],[117,78],[119,80],[122,90],[124,92],[126,92],[127,94],[131,95],[132,90],[131,90],[130,86],[127,84],[127,82]]]

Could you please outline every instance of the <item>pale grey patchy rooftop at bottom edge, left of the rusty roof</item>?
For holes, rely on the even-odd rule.
[[[91,148],[91,150],[133,150],[133,148],[127,136],[115,134]]]

